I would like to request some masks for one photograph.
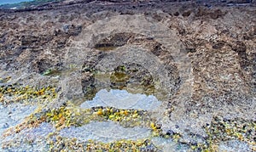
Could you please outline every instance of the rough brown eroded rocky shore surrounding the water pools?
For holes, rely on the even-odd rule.
[[[218,136],[214,128],[231,129],[230,124],[238,124],[234,127],[238,129],[224,128],[221,134],[248,144],[241,149],[255,149],[255,7],[143,4],[81,3],[88,8],[74,4],[65,11],[2,12],[0,103],[27,103],[27,98],[9,98],[9,94],[29,94],[28,103],[37,103],[31,101],[40,96],[40,110],[26,119],[28,127],[20,126],[26,130],[46,122],[57,125],[51,137],[54,141],[63,127],[86,127],[88,120],[77,124],[68,119],[79,120],[80,104],[93,101],[102,89],[154,95],[161,105],[148,111],[150,123],[140,127],[158,132],[160,141],[169,137],[191,149],[214,150],[215,145],[225,149],[219,140],[230,138]],[[25,93],[26,85],[40,89]],[[17,90],[15,86],[23,87]],[[55,98],[45,96],[44,100],[49,86],[55,87]],[[89,107],[104,118],[96,119],[87,111],[89,121],[128,119],[127,111],[108,112],[108,106]],[[113,115],[120,118],[113,119]],[[4,145],[4,149],[13,149]]]

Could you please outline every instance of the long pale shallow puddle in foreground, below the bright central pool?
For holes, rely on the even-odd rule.
[[[121,127],[113,121],[90,122],[82,127],[70,127],[62,129],[61,137],[78,138],[80,141],[96,140],[109,143],[120,139],[148,138],[150,130],[145,127]]]

